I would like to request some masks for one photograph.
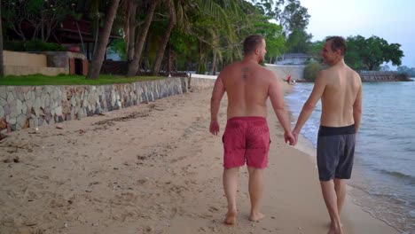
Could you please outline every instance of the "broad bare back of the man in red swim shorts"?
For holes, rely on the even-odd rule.
[[[267,116],[272,72],[258,64],[239,62],[221,72],[223,87],[228,96],[228,119],[236,116]]]

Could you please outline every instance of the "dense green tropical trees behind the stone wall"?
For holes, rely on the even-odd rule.
[[[242,57],[241,43],[250,34],[265,36],[268,62],[309,44],[301,42],[309,14],[298,0],[2,0],[1,14],[4,45],[16,51],[30,51],[33,44],[38,51],[62,50],[53,44],[59,22],[68,15],[76,23],[89,20],[95,38],[90,79],[98,79],[110,34],[123,38],[108,49],[128,61],[127,76],[215,74]],[[294,43],[287,43],[290,37]],[[83,42],[80,47],[85,50]]]

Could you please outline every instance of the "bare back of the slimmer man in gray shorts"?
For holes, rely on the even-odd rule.
[[[332,66],[321,73],[321,125],[343,127],[355,123],[354,105],[362,88],[360,76],[348,66]]]

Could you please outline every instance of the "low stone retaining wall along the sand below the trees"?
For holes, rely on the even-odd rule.
[[[187,79],[99,86],[0,86],[0,132],[80,119],[182,94],[188,91]],[[204,86],[202,81],[192,85],[199,86]]]

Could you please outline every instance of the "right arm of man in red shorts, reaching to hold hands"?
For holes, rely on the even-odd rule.
[[[284,129],[284,139],[289,141],[291,145],[295,144],[294,136],[291,133],[290,121],[288,119],[288,113],[286,112],[286,105],[284,103],[284,97],[281,91],[281,84],[275,74],[271,74],[270,88],[268,90],[270,101],[274,112],[277,115],[278,121]]]

